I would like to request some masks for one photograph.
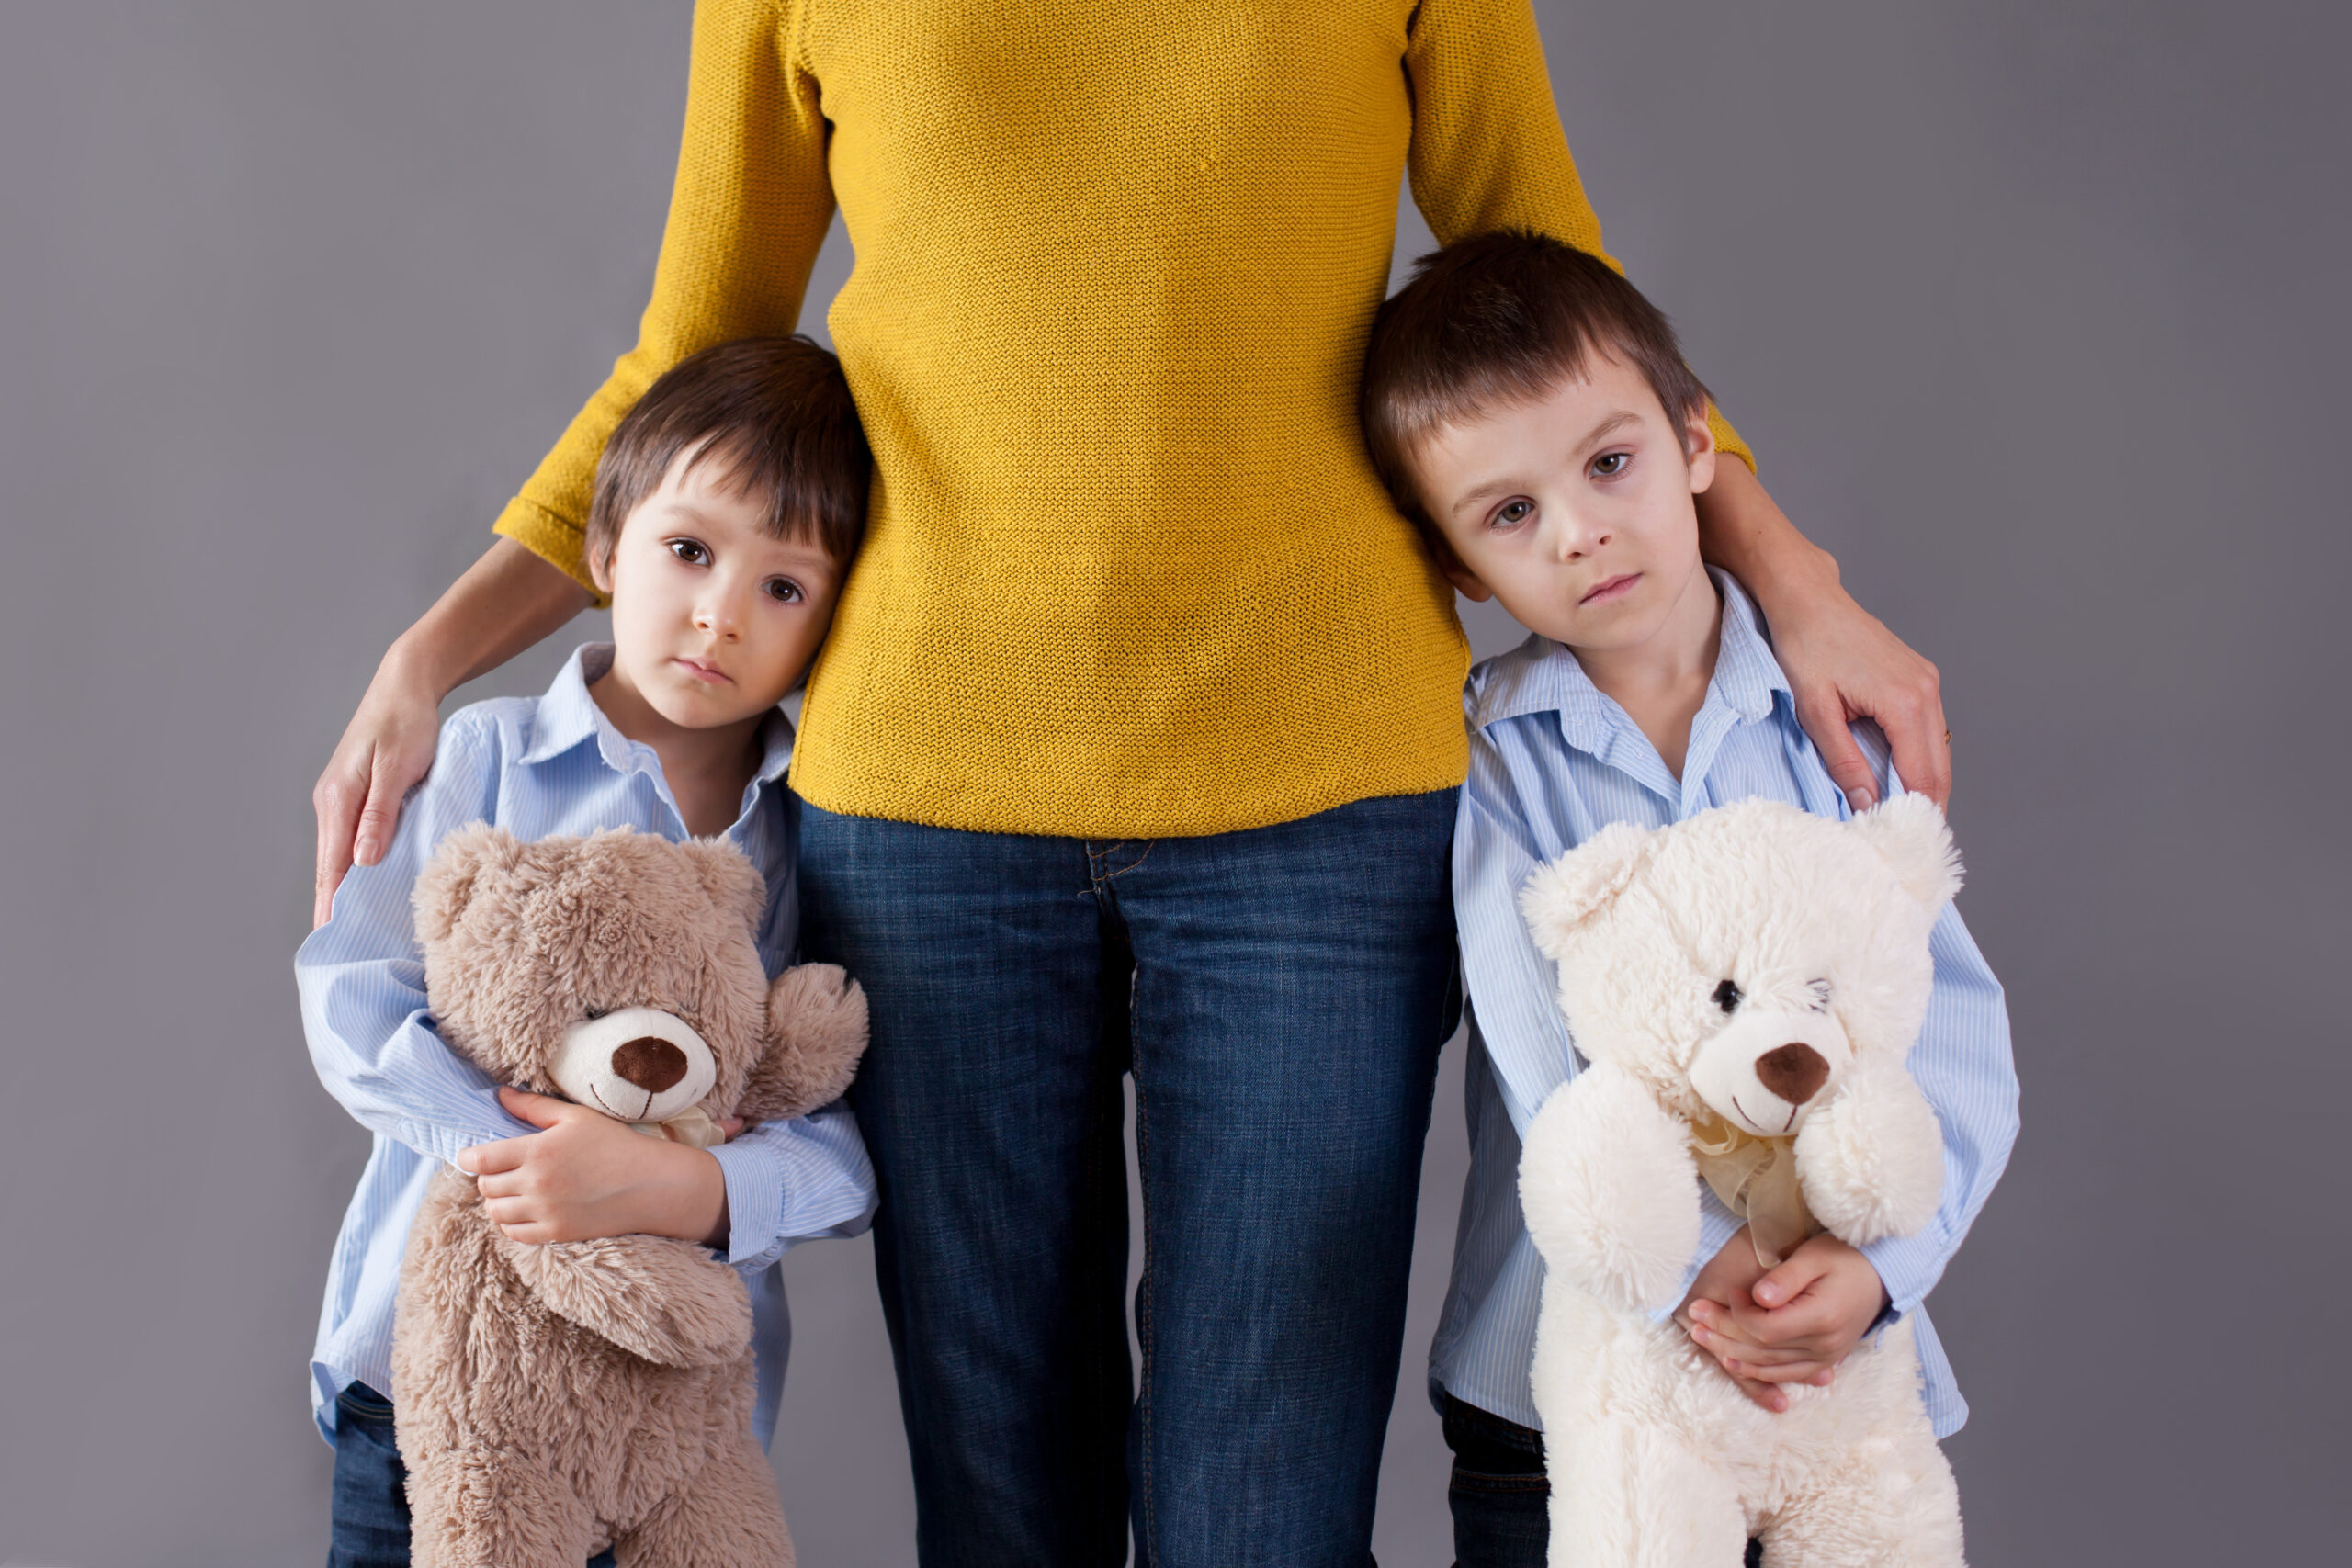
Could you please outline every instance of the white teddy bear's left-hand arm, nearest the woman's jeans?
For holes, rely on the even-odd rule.
[[[1606,1063],[1564,1084],[1526,1126],[1519,1206],[1543,1262],[1623,1312],[1682,1300],[1698,1251],[1689,1128]]]

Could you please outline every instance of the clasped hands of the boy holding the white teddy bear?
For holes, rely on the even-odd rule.
[[[1879,1272],[1837,1237],[1804,1241],[1766,1274],[1743,1229],[1700,1269],[1679,1316],[1743,1394],[1785,1410],[1778,1385],[1825,1387],[1884,1309]]]

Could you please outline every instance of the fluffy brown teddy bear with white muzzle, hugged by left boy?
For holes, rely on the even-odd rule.
[[[612,830],[442,839],[416,882],[440,1037],[494,1079],[708,1145],[715,1119],[828,1105],[866,1048],[830,964],[776,978],[760,872],[727,844]],[[400,1267],[393,1403],[416,1568],[790,1563],[753,1439],[750,1295],[666,1237],[527,1246],[433,1178]]]

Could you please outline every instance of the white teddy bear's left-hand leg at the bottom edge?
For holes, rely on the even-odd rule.
[[[1562,1568],[1722,1568],[1748,1547],[1731,1479],[1675,1432],[1595,1422],[1548,1469]]]

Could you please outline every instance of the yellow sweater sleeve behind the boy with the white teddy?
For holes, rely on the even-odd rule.
[[[1531,228],[1625,270],[1602,249],[1529,0],[1421,0],[1404,73],[1414,89],[1406,176],[1439,244]],[[1748,442],[1712,404],[1708,425],[1722,451],[1755,468]]]

